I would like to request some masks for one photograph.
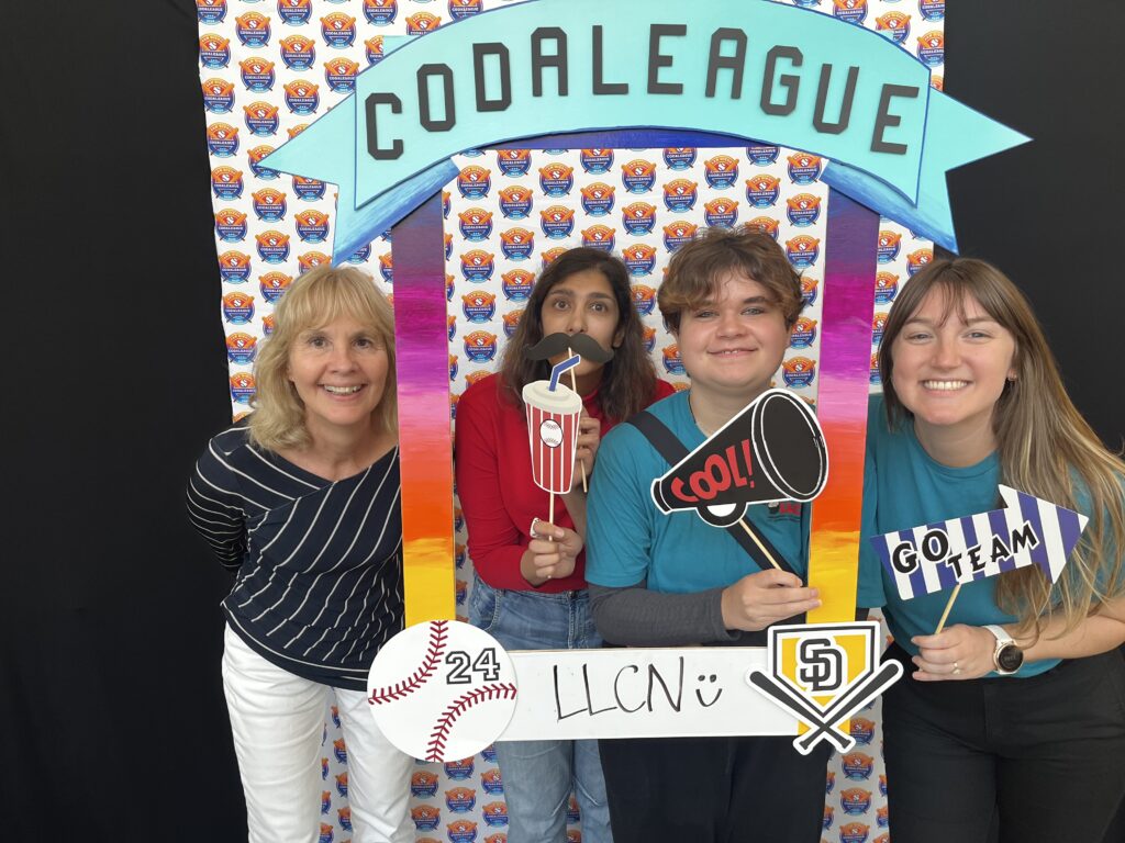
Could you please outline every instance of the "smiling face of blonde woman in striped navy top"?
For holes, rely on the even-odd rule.
[[[314,443],[375,424],[371,414],[382,399],[387,369],[386,348],[354,317],[302,332],[289,350],[286,374],[305,406]]]

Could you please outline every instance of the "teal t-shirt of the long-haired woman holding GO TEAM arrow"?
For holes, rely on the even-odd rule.
[[[868,538],[997,509],[1002,506],[997,489],[999,482],[1000,461],[994,452],[975,465],[957,469],[942,465],[922,448],[915,436],[912,423],[908,420],[896,430],[889,429],[883,397],[871,399],[864,468],[862,564],[881,570],[886,597],[886,624],[896,643],[911,655],[918,654],[918,647],[910,643],[910,637],[934,633],[953,591],[948,589],[903,600],[899,597],[894,579],[878,561]],[[997,579],[989,577],[964,583],[945,622],[946,626],[1014,623],[1017,618],[996,605]],[[1027,662],[1014,676],[1032,677],[1058,663],[1058,659]]]

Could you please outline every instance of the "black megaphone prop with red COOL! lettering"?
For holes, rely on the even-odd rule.
[[[662,513],[694,509],[714,527],[737,524],[750,504],[807,501],[828,481],[828,450],[809,406],[770,389],[652,481]]]

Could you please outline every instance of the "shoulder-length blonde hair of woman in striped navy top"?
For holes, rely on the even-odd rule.
[[[317,266],[286,290],[274,310],[277,326],[254,362],[256,392],[250,438],[268,451],[309,445],[305,404],[289,380],[289,353],[306,330],[346,316],[369,328],[387,352],[387,380],[374,417],[384,430],[398,426],[395,380],[395,320],[390,303],[369,275],[352,268]]]

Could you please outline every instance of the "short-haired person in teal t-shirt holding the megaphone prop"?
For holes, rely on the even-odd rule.
[[[673,256],[658,303],[692,382],[650,413],[690,451],[768,388],[801,310],[800,279],[768,235],[712,228]],[[608,642],[758,643],[749,636],[819,605],[799,575],[808,569],[807,507],[750,508],[753,525],[798,573],[762,570],[694,511],[657,510],[649,489],[668,469],[632,425],[614,428],[598,451],[586,579]],[[601,741],[614,843],[814,843],[820,749],[802,756],[791,737]]]

